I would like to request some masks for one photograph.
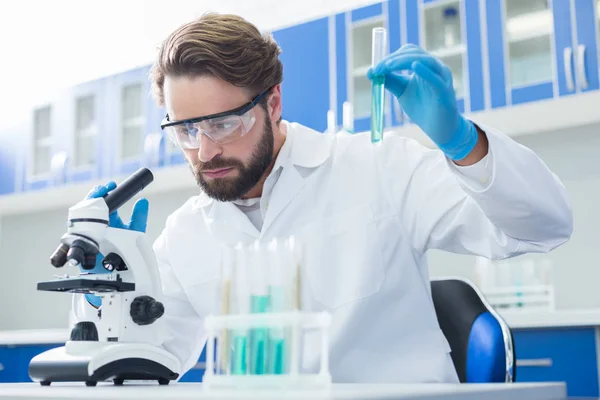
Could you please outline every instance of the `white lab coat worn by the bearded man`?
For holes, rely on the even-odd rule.
[[[491,177],[473,184],[411,139],[388,134],[372,145],[368,135],[289,124],[262,231],[234,204],[204,194],[168,218],[154,244],[171,334],[164,347],[184,371],[198,359],[203,318],[217,311],[220,245],[295,235],[307,250],[303,306],[333,317],[335,382],[456,382],[426,251],[500,259],[548,252],[572,232],[559,180],[531,150],[484,130]],[[82,299],[76,309],[79,318],[95,315]],[[309,343],[307,370],[317,352]]]

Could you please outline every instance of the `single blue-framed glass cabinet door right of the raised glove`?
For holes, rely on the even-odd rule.
[[[492,107],[575,93],[568,0],[486,0]]]

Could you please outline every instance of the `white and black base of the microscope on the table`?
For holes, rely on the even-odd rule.
[[[29,363],[33,381],[48,386],[52,382],[97,382],[112,380],[158,381],[166,385],[179,377],[179,360],[160,347],[140,343],[69,341],[65,346],[45,351]]]

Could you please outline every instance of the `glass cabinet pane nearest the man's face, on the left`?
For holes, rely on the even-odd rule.
[[[142,155],[144,151],[144,112],[142,84],[124,86],[121,91],[121,159]]]

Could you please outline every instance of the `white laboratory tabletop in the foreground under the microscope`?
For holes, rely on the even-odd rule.
[[[35,383],[0,384],[0,399],[38,400],[64,399],[419,399],[419,400],[563,400],[563,383],[514,384],[336,384],[327,390],[203,390],[201,383],[157,384],[110,383],[86,387],[83,384],[52,384],[42,387]]]

